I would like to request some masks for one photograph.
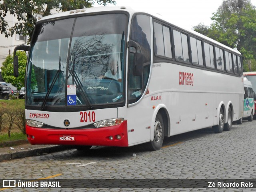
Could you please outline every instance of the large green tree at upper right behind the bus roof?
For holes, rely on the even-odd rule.
[[[249,0],[224,0],[211,19],[208,30],[202,30],[200,24],[194,29],[236,48],[244,60],[256,59],[256,8]]]

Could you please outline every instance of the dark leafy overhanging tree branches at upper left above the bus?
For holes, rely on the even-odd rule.
[[[47,16],[55,8],[61,11],[88,8],[92,7],[95,2],[104,6],[116,4],[115,0],[3,0],[0,4],[0,32],[6,37],[13,36],[14,33],[29,36],[28,42],[30,42],[37,21],[36,16],[39,13]],[[7,12],[18,18],[18,22],[10,28],[4,19]]]

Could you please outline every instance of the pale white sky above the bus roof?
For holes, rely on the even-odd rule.
[[[167,17],[174,24],[192,29],[200,23],[210,26],[210,18],[222,2],[223,0],[116,0],[116,6],[144,7]],[[251,3],[256,6],[256,0],[251,0]]]

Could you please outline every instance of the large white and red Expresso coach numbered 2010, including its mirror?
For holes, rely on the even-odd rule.
[[[46,16],[16,50],[29,51],[31,144],[158,150],[164,136],[220,133],[242,118],[240,52],[158,14],[110,6]]]

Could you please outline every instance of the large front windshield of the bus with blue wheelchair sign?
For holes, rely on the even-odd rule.
[[[28,58],[26,105],[95,106],[124,101],[125,14],[39,23]]]

